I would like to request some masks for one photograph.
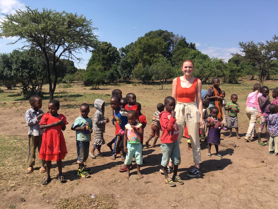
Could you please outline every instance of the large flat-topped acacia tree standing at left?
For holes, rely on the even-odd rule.
[[[97,28],[93,28],[92,20],[87,20],[83,15],[26,8],[26,11],[17,10],[14,14],[5,15],[0,24],[0,37],[18,37],[10,44],[24,40],[25,47],[35,47],[41,51],[46,61],[49,95],[53,99],[58,79],[58,60],[61,56],[68,56],[80,62],[77,54],[81,50],[96,48],[98,39],[93,30]],[[54,72],[53,83],[51,69]]]

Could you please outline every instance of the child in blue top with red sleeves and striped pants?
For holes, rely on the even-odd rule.
[[[116,121],[116,123],[120,126],[120,130],[115,132],[115,145],[112,153],[112,160],[116,159],[117,154],[119,153],[119,145],[122,141],[123,137],[123,130],[125,130],[125,125],[127,124],[127,112],[126,111],[120,111],[122,109],[121,103],[120,103],[120,97],[118,95],[114,95],[110,98],[110,106],[113,110],[114,118],[113,120]]]

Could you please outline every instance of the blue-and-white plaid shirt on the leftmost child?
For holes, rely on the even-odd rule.
[[[39,120],[36,118],[39,114],[42,113],[44,113],[42,110],[38,109],[38,111],[34,111],[32,107],[30,107],[30,109],[26,111],[25,120],[28,125],[28,135],[34,135],[34,136],[43,135],[43,129],[40,129],[40,125],[39,125],[41,118]]]

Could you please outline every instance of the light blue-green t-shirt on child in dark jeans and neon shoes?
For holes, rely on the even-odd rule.
[[[82,118],[79,116],[78,118],[75,119],[74,123],[72,124],[72,128],[77,128],[77,127],[83,127],[85,125],[89,126],[89,129],[93,127],[93,121],[91,118]],[[76,141],[91,141],[91,134],[89,130],[82,131],[82,130],[76,130]]]

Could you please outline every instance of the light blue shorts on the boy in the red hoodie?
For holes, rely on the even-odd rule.
[[[180,145],[178,140],[173,143],[161,143],[160,149],[162,152],[161,165],[167,167],[170,158],[173,165],[180,165]]]

